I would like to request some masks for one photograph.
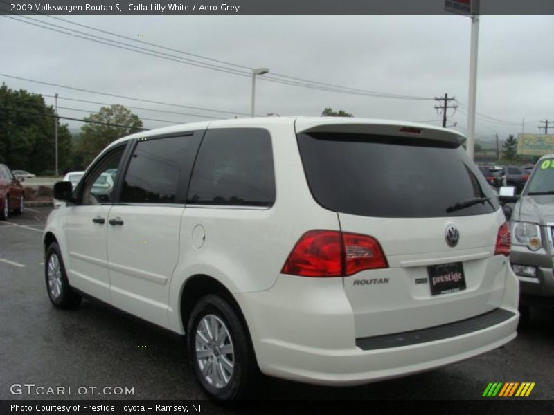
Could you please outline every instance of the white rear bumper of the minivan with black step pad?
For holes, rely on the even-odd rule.
[[[497,349],[515,338],[519,321],[517,280],[511,272],[506,279],[504,299],[497,309],[503,317],[491,320],[490,325],[439,340],[369,350],[364,350],[361,339],[356,344],[354,315],[342,282],[332,281],[334,278],[315,289],[312,285],[306,292],[307,279],[281,275],[269,291],[236,297],[249,324],[258,365],[265,374],[346,386],[449,365]]]

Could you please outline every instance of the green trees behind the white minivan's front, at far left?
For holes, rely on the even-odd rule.
[[[58,172],[85,169],[110,142],[141,131],[136,114],[114,104],[83,118],[73,137],[42,95],[24,89],[0,87],[0,163],[37,175],[55,171],[55,124],[57,123]]]

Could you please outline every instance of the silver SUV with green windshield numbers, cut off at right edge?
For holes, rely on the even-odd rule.
[[[526,317],[529,306],[554,306],[554,154],[539,159],[512,211],[510,229],[510,262]]]

